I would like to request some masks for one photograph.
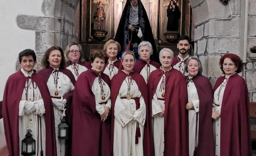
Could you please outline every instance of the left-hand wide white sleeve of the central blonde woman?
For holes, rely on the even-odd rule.
[[[114,110],[114,116],[117,119],[117,121],[122,125],[122,127],[134,119],[134,116],[132,115],[131,111],[125,109],[125,105],[118,95],[116,98]]]

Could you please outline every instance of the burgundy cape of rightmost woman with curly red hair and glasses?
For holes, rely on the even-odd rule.
[[[219,77],[213,91],[224,81]],[[245,80],[237,73],[231,75],[226,85],[220,122],[220,155],[251,156],[251,127],[248,89]]]

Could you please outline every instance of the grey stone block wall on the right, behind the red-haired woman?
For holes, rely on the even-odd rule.
[[[212,86],[223,73],[218,62],[226,53],[240,54],[241,0],[223,5],[213,0],[191,0],[194,17],[194,55],[200,58],[203,75],[210,77]],[[244,5],[244,4],[243,4]],[[256,1],[249,0],[248,52],[256,45]],[[247,82],[250,101],[256,101],[256,62],[247,59],[240,73]]]

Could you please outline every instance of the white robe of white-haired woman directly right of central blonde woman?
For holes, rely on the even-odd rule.
[[[162,91],[160,91],[161,82],[165,77],[165,74],[161,77],[156,93],[152,99],[152,122],[153,122],[153,135],[154,135],[154,146],[155,155],[164,155],[164,116],[159,116],[158,113],[163,112],[162,108],[165,108],[165,103],[163,100],[158,100],[157,98],[162,98]]]

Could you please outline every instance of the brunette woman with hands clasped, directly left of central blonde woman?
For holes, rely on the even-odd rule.
[[[111,156],[110,79],[102,73],[106,54],[90,54],[92,69],[77,79],[73,92],[72,155]]]

